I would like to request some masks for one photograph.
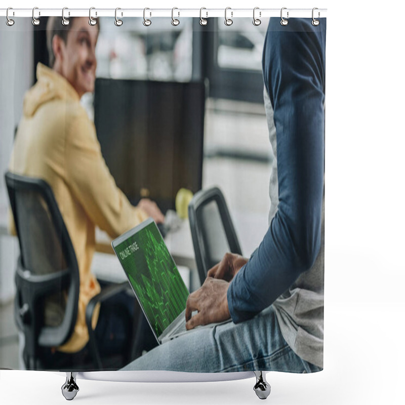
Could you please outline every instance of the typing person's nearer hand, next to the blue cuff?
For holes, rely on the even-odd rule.
[[[186,305],[186,329],[193,329],[198,325],[212,322],[222,322],[230,318],[228,299],[229,282],[206,278],[204,284],[191,293]],[[191,317],[191,312],[198,313]]]

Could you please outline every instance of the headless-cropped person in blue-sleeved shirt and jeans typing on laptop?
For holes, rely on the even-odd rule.
[[[269,229],[249,260],[225,255],[186,308],[187,329],[233,322],[179,336],[123,370],[322,370],[325,25],[270,19],[263,53],[275,155]]]

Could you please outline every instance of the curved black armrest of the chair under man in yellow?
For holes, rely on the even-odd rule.
[[[94,331],[92,328],[92,319],[94,309],[98,303],[102,303],[103,301],[108,300],[109,298],[113,297],[115,294],[125,291],[130,286],[128,281],[121,282],[120,284],[113,284],[111,286],[105,287],[101,290],[101,292],[95,295],[87,304],[86,307],[86,325],[89,331],[89,344],[90,344],[90,351],[92,353],[95,365],[98,369],[103,368],[103,364],[101,362],[100,353],[97,348],[96,338],[94,336]]]

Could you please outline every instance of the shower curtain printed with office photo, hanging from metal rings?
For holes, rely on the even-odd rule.
[[[255,11],[1,19],[0,367],[323,369],[326,18]]]

